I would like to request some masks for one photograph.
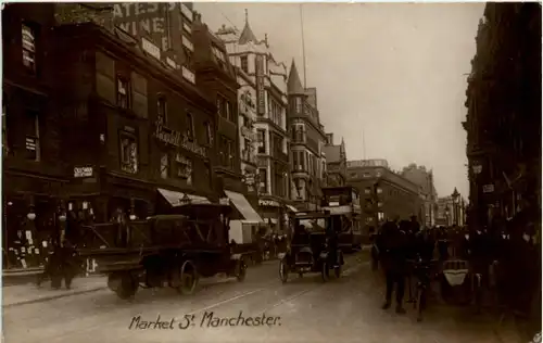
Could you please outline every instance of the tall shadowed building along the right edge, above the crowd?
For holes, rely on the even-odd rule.
[[[488,3],[479,23],[463,125],[470,218],[481,225],[525,209],[540,221],[540,28],[539,3]]]

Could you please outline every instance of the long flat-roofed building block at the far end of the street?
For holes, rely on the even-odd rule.
[[[348,162],[348,183],[358,189],[362,220],[367,227],[380,226],[387,219],[409,219],[416,215],[420,221],[424,202],[417,185],[393,173],[386,160]]]

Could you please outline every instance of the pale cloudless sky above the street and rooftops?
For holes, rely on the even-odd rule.
[[[433,169],[440,196],[467,198],[466,74],[484,3],[194,4],[211,30],[223,24],[258,39],[317,88],[320,120],[348,160],[386,158],[393,169]],[[364,138],[363,138],[364,137]]]

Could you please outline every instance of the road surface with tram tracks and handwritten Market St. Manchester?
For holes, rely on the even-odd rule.
[[[267,263],[251,268],[244,283],[205,285],[193,296],[140,290],[132,302],[125,302],[102,290],[13,306],[3,313],[4,336],[25,343],[501,342],[488,318],[465,308],[430,306],[424,322],[416,321],[408,304],[404,316],[380,309],[382,281],[367,258],[349,256],[344,276],[326,284],[319,275],[291,275],[281,284],[278,264]],[[181,329],[186,315],[192,325]]]

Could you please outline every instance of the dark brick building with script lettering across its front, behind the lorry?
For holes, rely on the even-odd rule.
[[[108,221],[118,209],[144,218],[185,193],[213,199],[215,105],[195,85],[119,29],[54,31],[68,209]]]

